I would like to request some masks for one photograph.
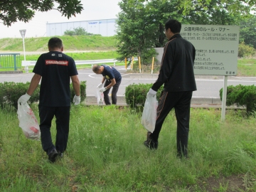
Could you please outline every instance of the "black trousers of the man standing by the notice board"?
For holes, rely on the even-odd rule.
[[[192,91],[162,92],[156,114],[156,127],[151,138],[158,142],[159,133],[167,114],[174,108],[177,120],[177,151],[178,155],[187,155],[189,117]]]

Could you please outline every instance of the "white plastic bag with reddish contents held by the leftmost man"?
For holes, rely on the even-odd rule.
[[[18,126],[21,127],[26,138],[40,140],[41,132],[38,125],[38,121],[27,102],[26,104],[18,103],[17,114],[19,120]]]

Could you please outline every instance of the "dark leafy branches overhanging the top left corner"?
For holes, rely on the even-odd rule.
[[[11,23],[17,21],[30,21],[35,15],[35,11],[50,11],[54,9],[54,3],[58,4],[56,10],[60,11],[62,16],[75,16],[82,11],[82,4],[79,0],[26,0],[26,1],[0,1],[0,20],[4,25],[11,26]]]

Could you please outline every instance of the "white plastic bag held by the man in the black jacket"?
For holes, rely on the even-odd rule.
[[[156,125],[156,109],[158,107],[158,101],[156,95],[146,96],[144,110],[142,112],[142,125],[146,130],[153,133]]]

